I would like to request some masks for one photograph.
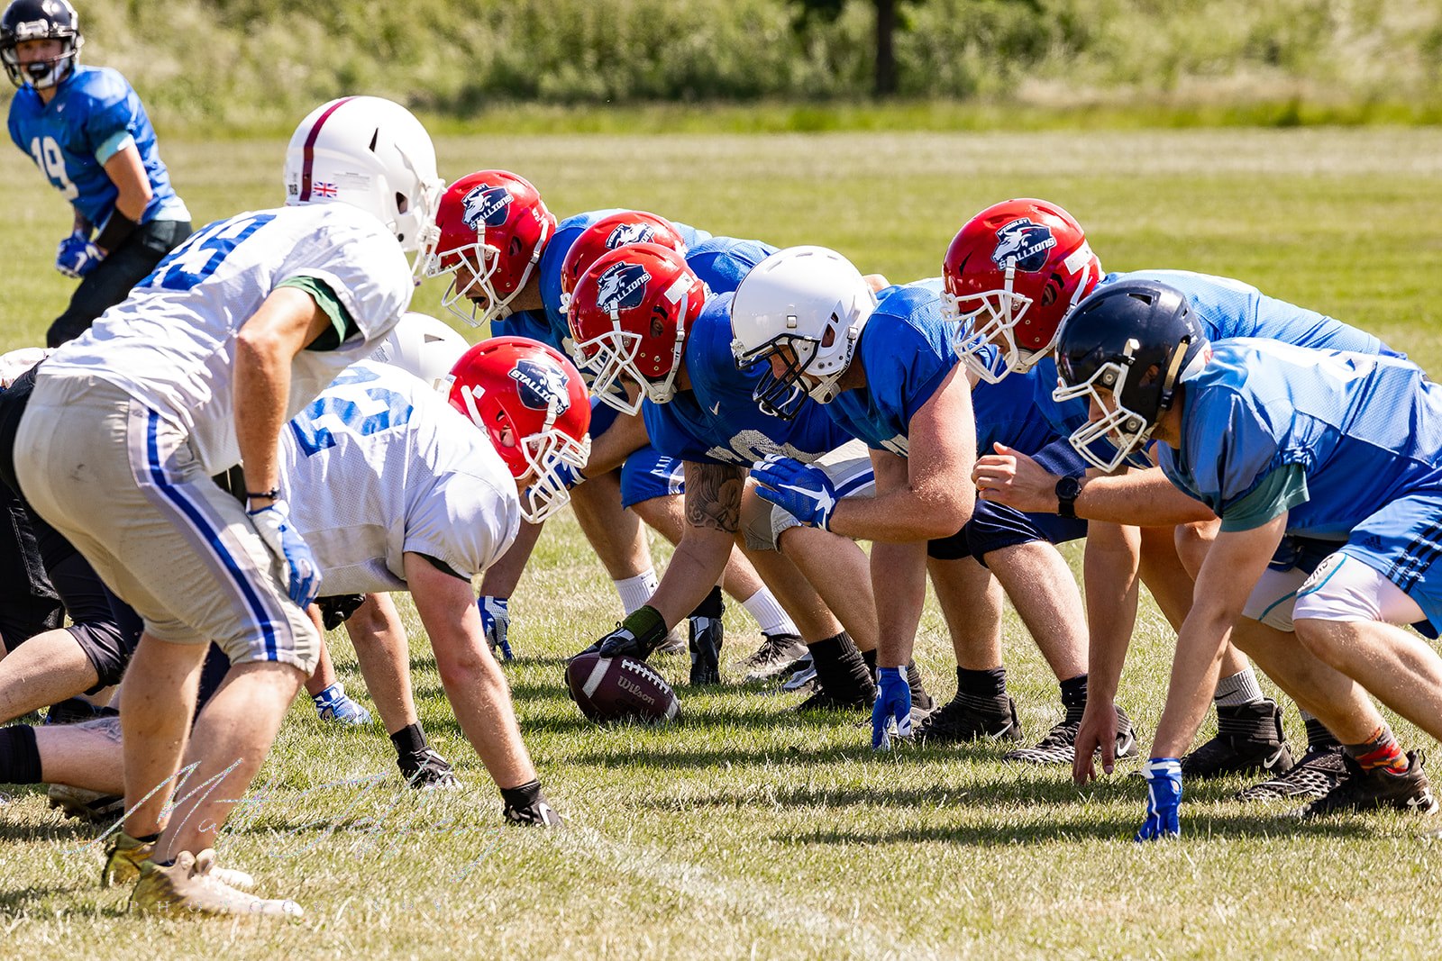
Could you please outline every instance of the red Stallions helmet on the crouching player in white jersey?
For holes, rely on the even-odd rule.
[[[492,337],[448,375],[453,408],[490,437],[510,475],[528,484],[521,516],[541,523],[571,500],[558,468],[591,455],[591,402],[571,362],[526,337]]]

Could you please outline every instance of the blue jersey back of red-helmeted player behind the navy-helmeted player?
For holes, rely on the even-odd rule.
[[[1226,277],[1191,271],[1131,271],[1107,274],[1102,278],[1102,284],[1123,280],[1149,280],[1181,291],[1197,311],[1197,318],[1207,331],[1207,340],[1266,337],[1296,347],[1405,356],[1364,330],[1318,314],[1315,310],[1268,297],[1249,284]]]

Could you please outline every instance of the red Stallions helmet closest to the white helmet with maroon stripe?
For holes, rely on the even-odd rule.
[[[440,238],[427,251],[425,275],[454,274],[441,307],[479,327],[510,316],[510,301],[555,233],[555,216],[525,177],[477,170],[441,196],[435,226]],[[472,300],[476,295],[485,295],[485,307]]]

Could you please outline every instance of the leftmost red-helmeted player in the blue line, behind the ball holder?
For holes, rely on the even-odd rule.
[[[627,213],[639,216],[619,216]],[[596,210],[558,223],[528,180],[505,170],[479,170],[446,192],[437,220],[438,241],[427,272],[451,277],[441,303],[466,323],[489,321],[492,334],[532,337],[567,353],[565,262],[581,235],[607,218],[613,219],[613,228],[601,235],[603,246],[652,239],[685,248],[709,236],[642,212]],[[571,275],[578,274],[572,267]],[[597,414],[593,437],[614,422],[606,411]],[[632,454],[620,471],[591,471],[575,480],[585,480],[571,501],[577,520],[630,614],[646,602],[658,584],[639,520],[671,540],[679,537],[681,465],[645,447]],[[523,526],[516,546],[482,584],[483,617],[490,637],[497,641],[505,638],[509,596],[538,536],[539,526]],[[795,625],[738,553],[728,562],[724,584],[756,617],[764,634],[795,637]],[[714,617],[698,612],[689,621],[689,633],[714,645],[720,625],[720,612]],[[684,644],[676,638],[666,650],[679,650]]]

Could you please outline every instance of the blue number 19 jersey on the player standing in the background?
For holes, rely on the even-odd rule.
[[[17,89],[10,101],[10,140],[95,229],[110,220],[120,193],[105,161],[131,144],[150,177],[151,197],[140,222],[190,219],[170,186],[146,108],[110,68],[76,65],[49,104],[33,86]]]

